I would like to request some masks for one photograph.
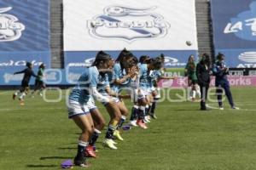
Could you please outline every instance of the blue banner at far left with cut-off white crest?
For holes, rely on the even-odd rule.
[[[0,0],[0,84],[3,75],[24,69],[50,66],[49,0]]]

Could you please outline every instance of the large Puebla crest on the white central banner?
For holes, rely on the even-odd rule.
[[[155,8],[157,7],[108,6],[103,9],[103,14],[88,20],[90,35],[101,38],[119,38],[127,42],[165,37],[170,25],[163,16],[153,13]]]

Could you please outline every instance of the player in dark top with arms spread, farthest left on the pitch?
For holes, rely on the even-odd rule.
[[[29,90],[29,86],[28,83],[30,81],[31,77],[37,77],[37,75],[35,75],[34,71],[32,71],[33,65],[30,62],[26,62],[26,69],[23,71],[18,71],[15,72],[14,74],[21,74],[24,73],[23,79],[21,81],[21,88],[20,91],[15,92],[15,94],[13,94],[13,99],[15,99],[15,97],[20,94],[19,100],[20,100],[20,105],[24,105],[24,97],[26,96],[26,94],[28,93]]]

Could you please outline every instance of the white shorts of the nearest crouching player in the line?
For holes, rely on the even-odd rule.
[[[68,100],[67,111],[68,111],[68,118],[72,118],[73,116],[90,114],[90,111],[87,105],[82,105],[79,102],[74,101],[72,99]]]

